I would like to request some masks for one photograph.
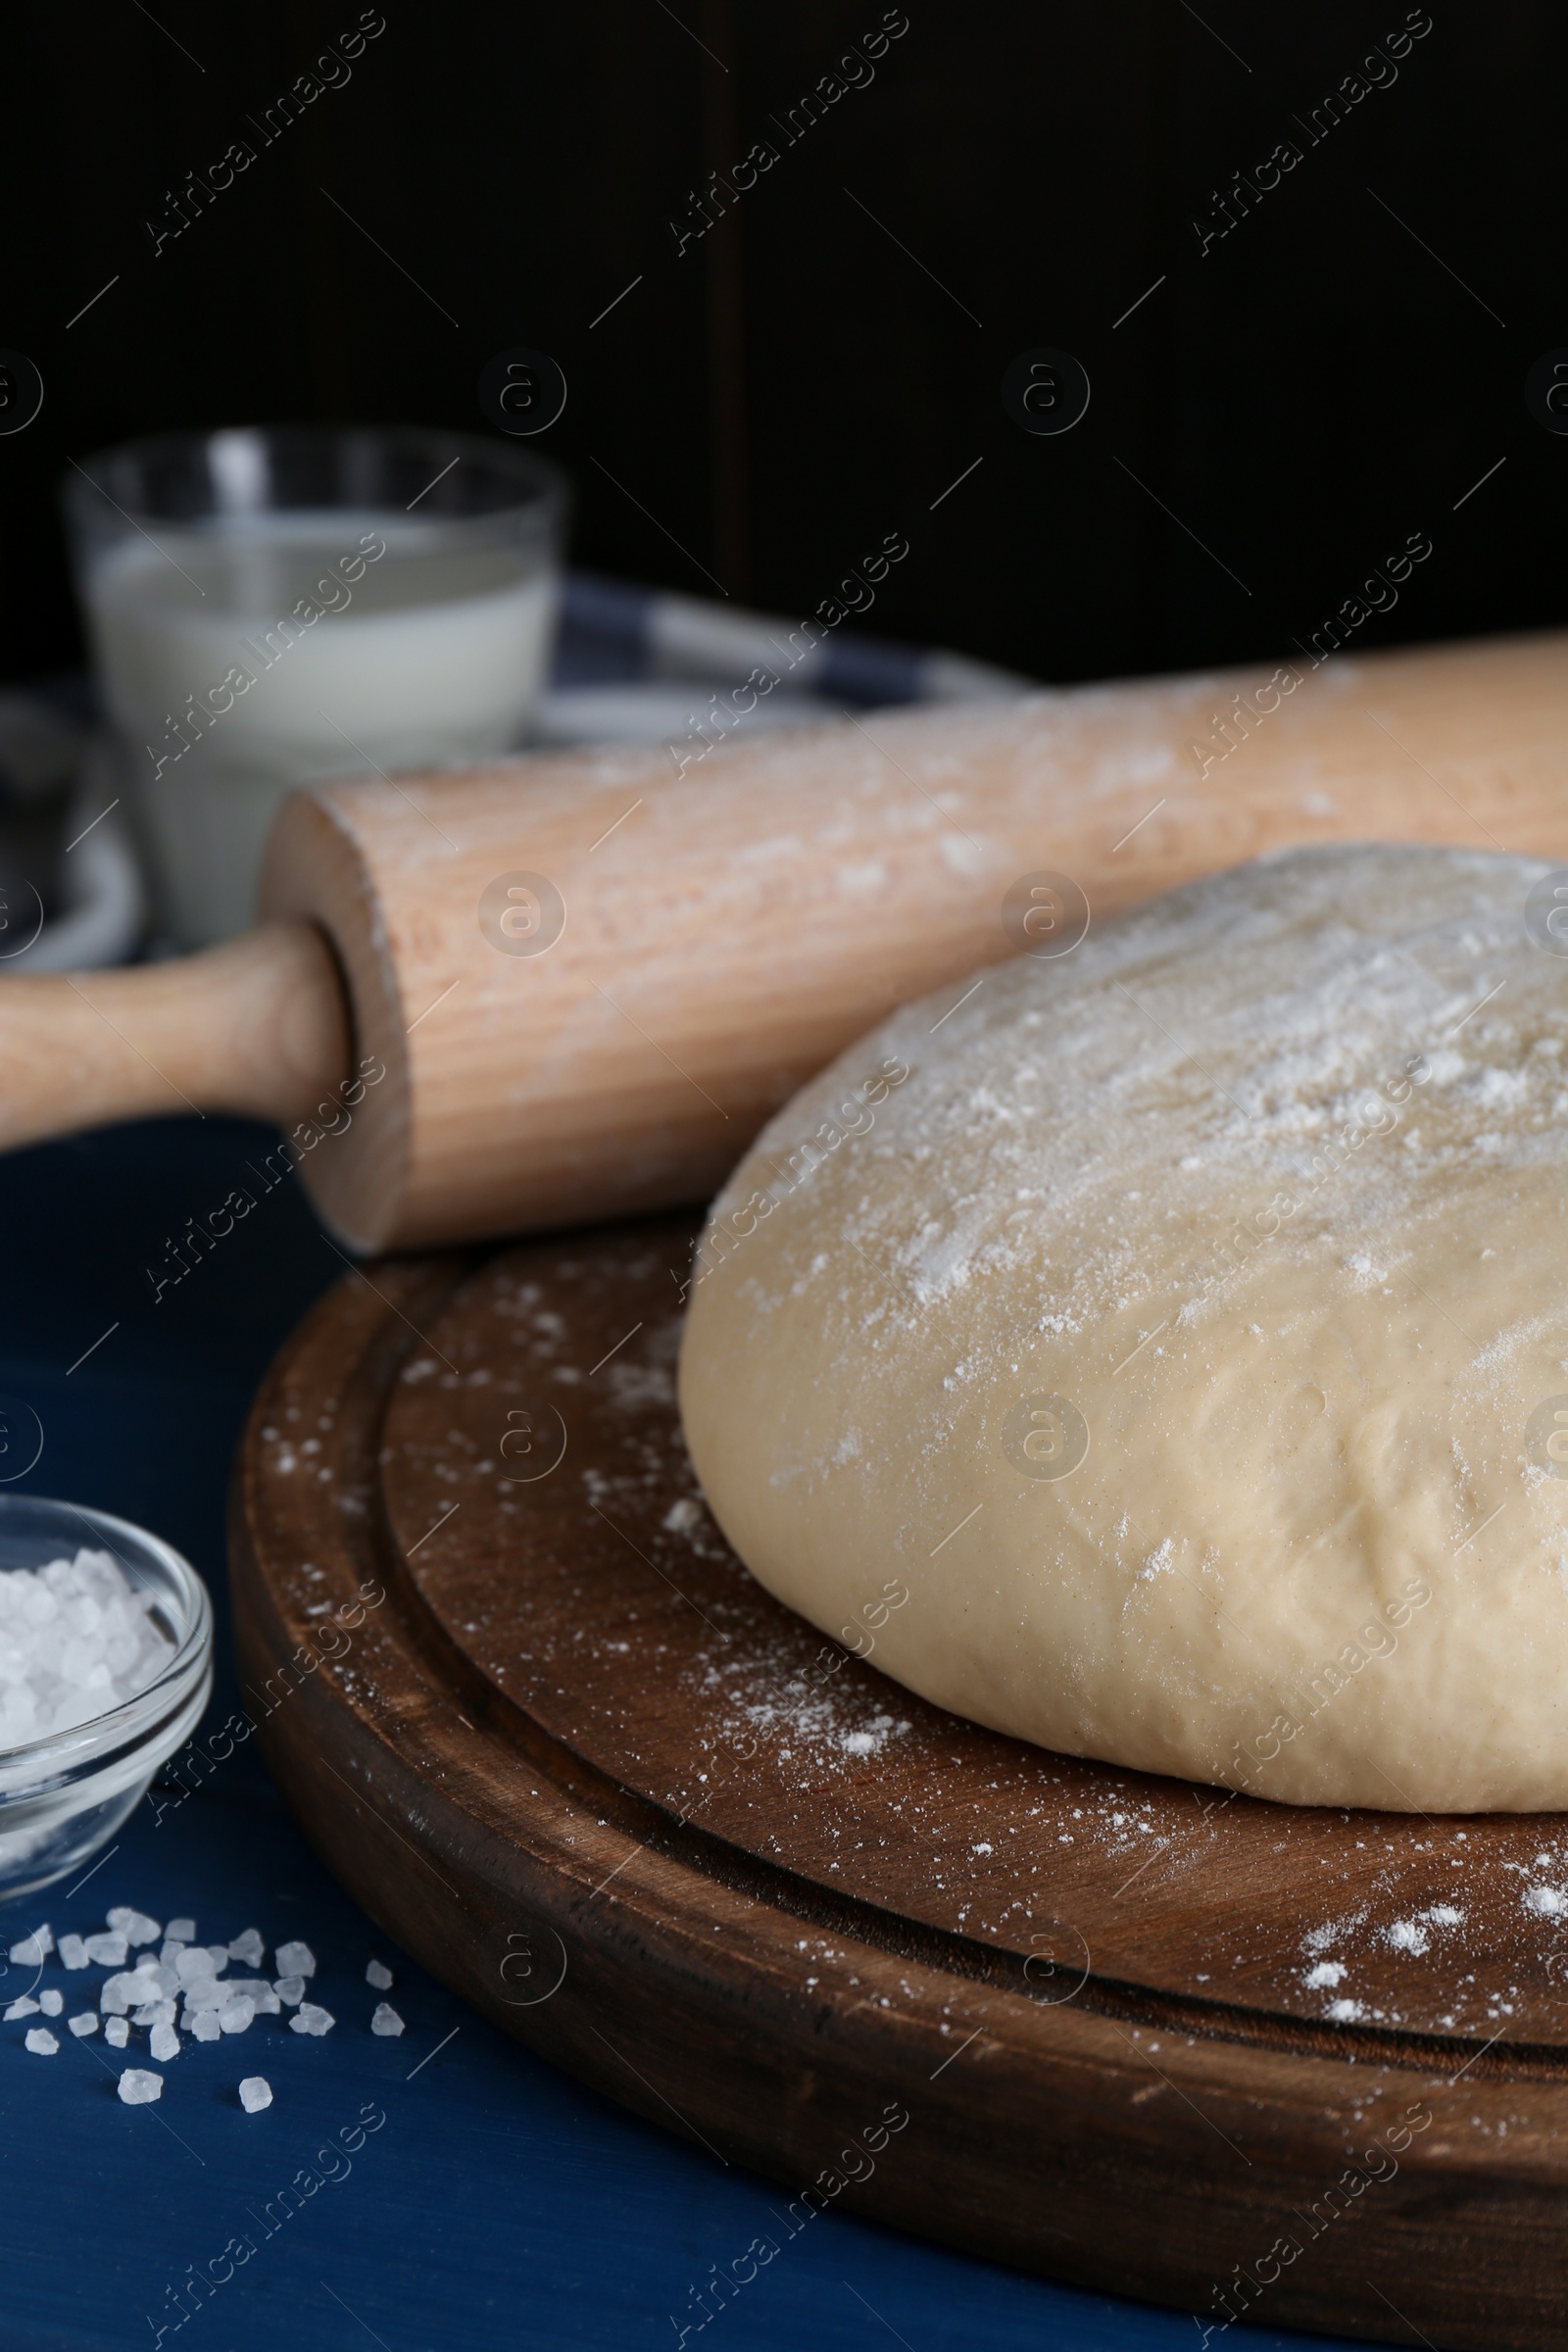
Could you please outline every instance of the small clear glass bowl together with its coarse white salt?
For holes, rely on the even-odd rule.
[[[212,1602],[169,1543],[0,1496],[0,1900],[115,1835],[212,1693]]]

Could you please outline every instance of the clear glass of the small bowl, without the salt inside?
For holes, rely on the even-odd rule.
[[[212,1599],[174,1545],[106,1510],[0,1496],[0,1569],[42,1569],[80,1550],[110,1552],[174,1658],[134,1698],[71,1731],[0,1748],[0,1903],[78,1870],[115,1835],[153,1773],[190,1738],[212,1696]]]

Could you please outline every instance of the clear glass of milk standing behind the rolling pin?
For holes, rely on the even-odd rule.
[[[280,800],[517,748],[545,682],[567,485],[465,433],[247,426],[66,480],[78,593],[162,927],[252,920]]]

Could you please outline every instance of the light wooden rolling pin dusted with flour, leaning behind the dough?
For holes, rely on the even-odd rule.
[[[1098,917],[1326,840],[1568,863],[1568,635],[296,793],[256,931],[0,981],[0,1143],[254,1112],[355,1249],[698,1200],[872,1021],[1016,953],[1018,877]]]

